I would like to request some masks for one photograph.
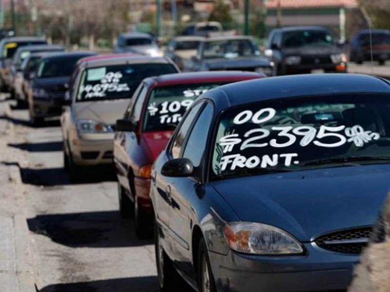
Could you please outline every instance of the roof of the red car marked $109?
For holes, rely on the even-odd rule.
[[[205,72],[186,72],[163,74],[159,76],[148,77],[146,83],[155,86],[168,86],[186,83],[202,83],[213,81],[241,81],[255,78],[263,78],[265,75],[247,71],[205,71]]]

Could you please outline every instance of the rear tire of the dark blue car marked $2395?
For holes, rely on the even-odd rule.
[[[171,292],[177,291],[175,283],[179,279],[179,274],[177,273],[172,260],[164,252],[164,248],[161,244],[160,233],[158,230],[158,225],[155,220],[154,224],[154,233],[155,233],[155,253],[156,253],[156,267],[157,267],[157,278],[158,285],[161,292]]]

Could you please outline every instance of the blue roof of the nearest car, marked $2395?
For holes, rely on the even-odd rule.
[[[225,100],[222,103],[228,107],[277,98],[347,93],[390,93],[390,82],[349,73],[287,75],[223,85],[208,91],[207,97],[218,104]]]

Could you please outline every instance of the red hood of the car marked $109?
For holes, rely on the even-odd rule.
[[[148,149],[150,163],[153,163],[157,156],[167,145],[173,131],[144,132],[141,134],[141,146]]]

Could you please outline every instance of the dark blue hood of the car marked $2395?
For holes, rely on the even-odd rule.
[[[300,241],[373,225],[390,185],[390,164],[323,168],[213,183],[242,221],[288,231]]]

